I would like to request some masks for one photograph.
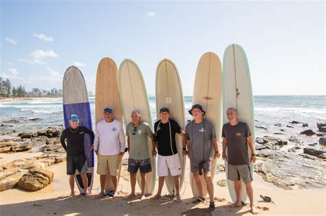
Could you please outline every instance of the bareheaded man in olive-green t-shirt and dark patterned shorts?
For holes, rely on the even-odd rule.
[[[140,169],[142,193],[140,200],[145,199],[146,173],[152,171],[151,159],[149,158],[149,145],[147,136],[154,142],[154,135],[149,128],[149,124],[142,121],[142,116],[138,110],[131,112],[131,122],[126,127],[128,143],[128,171],[130,173],[131,194],[129,198],[135,196],[136,173]]]

